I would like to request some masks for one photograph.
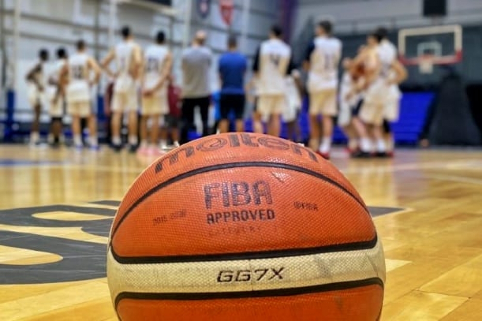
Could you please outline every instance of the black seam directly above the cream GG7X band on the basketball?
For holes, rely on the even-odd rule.
[[[144,257],[123,257],[115,253],[112,246],[110,252],[112,257],[121,264],[162,264],[162,263],[186,263],[186,262],[211,262],[231,260],[262,260],[275,258],[288,258],[303,255],[316,255],[333,252],[346,252],[357,250],[373,249],[378,241],[375,234],[373,240],[360,241],[344,244],[333,244],[316,247],[290,248],[280,250],[267,250],[256,252],[240,253],[219,253],[219,254],[193,254],[193,255],[172,255],[172,256],[144,256]]]

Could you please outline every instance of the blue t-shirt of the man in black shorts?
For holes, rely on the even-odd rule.
[[[247,64],[246,57],[239,52],[229,51],[219,58],[221,93],[244,94],[244,73]]]

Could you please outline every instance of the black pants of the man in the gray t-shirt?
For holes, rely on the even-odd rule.
[[[182,107],[182,128],[181,128],[181,144],[187,143],[187,134],[190,130],[194,129],[194,108],[199,107],[202,120],[202,136],[209,135],[209,104],[210,99],[207,97],[199,98],[184,98]]]

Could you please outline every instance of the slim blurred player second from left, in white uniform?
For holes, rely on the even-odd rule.
[[[62,136],[62,116],[65,103],[65,85],[67,79],[60,79],[60,71],[67,61],[67,51],[65,48],[57,50],[57,61],[54,70],[48,79],[48,98],[50,100],[50,134],[48,143],[52,147],[59,145]]]

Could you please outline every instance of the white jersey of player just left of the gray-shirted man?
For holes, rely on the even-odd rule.
[[[149,46],[144,55],[144,87],[152,89],[159,82],[161,73],[166,63],[169,49],[164,45]],[[160,95],[167,95],[167,82],[157,92]]]

